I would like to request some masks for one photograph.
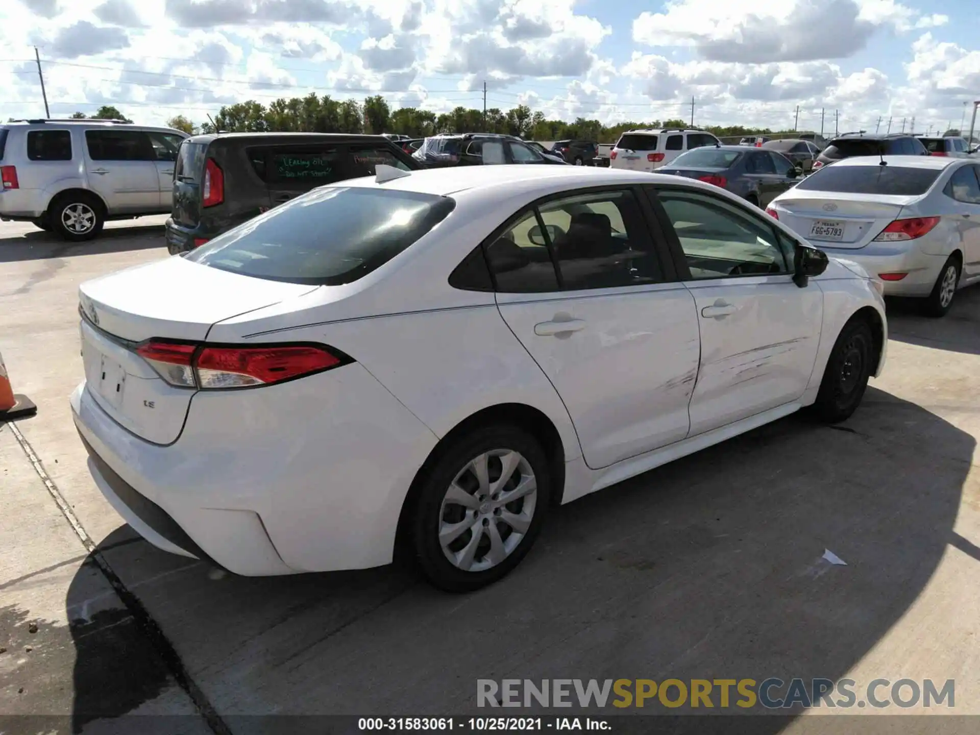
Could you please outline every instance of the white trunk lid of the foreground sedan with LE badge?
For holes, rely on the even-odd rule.
[[[201,341],[211,326],[316,287],[199,266],[172,257],[82,283],[78,289],[85,380],[99,406],[156,444],[180,435],[193,388],[172,386],[135,348],[151,337]]]

